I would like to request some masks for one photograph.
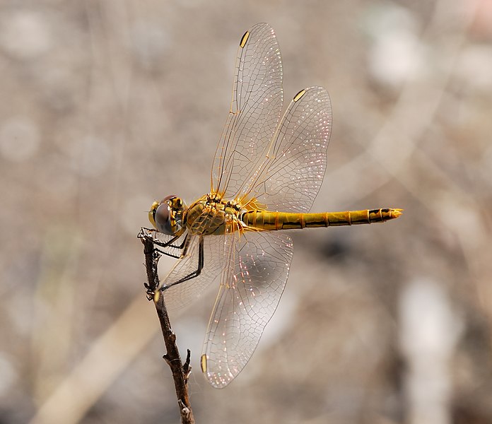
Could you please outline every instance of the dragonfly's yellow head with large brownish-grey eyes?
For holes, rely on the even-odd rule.
[[[175,235],[182,227],[182,216],[185,202],[180,197],[166,196],[161,201],[154,201],[148,211],[148,220],[158,232]]]

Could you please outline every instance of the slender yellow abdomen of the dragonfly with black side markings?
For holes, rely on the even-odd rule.
[[[382,223],[402,215],[402,209],[382,208],[363,211],[291,213],[271,211],[247,211],[242,222],[262,230],[289,230],[295,228],[334,227]]]

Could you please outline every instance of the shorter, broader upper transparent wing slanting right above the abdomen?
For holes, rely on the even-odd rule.
[[[299,97],[300,96],[300,97]],[[327,90],[311,87],[295,95],[276,130],[264,163],[242,192],[269,210],[308,212],[327,167],[332,107]]]

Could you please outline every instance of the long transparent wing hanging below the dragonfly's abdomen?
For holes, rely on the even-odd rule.
[[[229,384],[250,360],[285,288],[293,254],[280,232],[238,232],[225,240],[225,269],[204,343],[213,387]]]

